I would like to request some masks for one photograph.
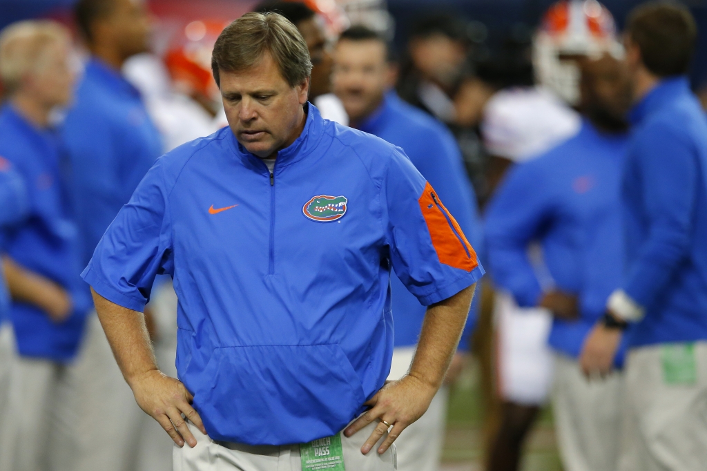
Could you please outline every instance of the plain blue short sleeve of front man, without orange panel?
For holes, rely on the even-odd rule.
[[[157,274],[173,274],[164,158],[145,175],[95,248],[81,277],[124,308],[141,311]]]

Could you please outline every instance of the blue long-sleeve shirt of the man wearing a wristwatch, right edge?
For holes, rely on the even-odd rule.
[[[629,344],[707,339],[707,120],[684,77],[661,81],[631,120],[621,287],[645,318]]]

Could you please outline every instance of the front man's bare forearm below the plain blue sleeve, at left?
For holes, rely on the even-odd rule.
[[[145,325],[145,316],[108,301],[91,288],[98,319],[115,355],[120,371],[129,385],[150,371],[157,361]]]

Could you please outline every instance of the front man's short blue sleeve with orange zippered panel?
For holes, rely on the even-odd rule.
[[[392,152],[381,193],[392,268],[423,306],[450,298],[483,276],[454,216],[402,149]]]

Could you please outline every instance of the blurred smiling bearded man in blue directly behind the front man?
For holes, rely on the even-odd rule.
[[[481,245],[476,198],[452,134],[430,115],[400,100],[394,91],[395,66],[387,44],[373,30],[354,26],[344,31],[334,54],[334,93],[341,99],[351,126],[400,146],[415,168],[437,190],[474,247]],[[391,274],[390,300],[395,322],[395,349],[388,380],[407,373],[420,335],[425,306]],[[472,313],[452,361],[448,380],[461,369],[474,325]],[[436,470],[444,438],[448,388],[441,388],[428,411],[409,426],[397,447],[398,470]]]

